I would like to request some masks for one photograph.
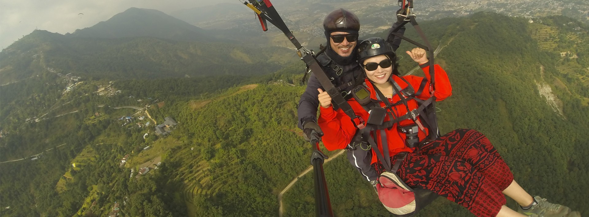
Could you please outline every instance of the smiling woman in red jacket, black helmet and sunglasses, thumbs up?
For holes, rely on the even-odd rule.
[[[415,93],[419,100],[431,97],[428,90],[405,91],[407,88],[418,90],[423,79],[427,79],[425,86],[429,86],[429,65],[426,64],[428,58],[425,50],[416,48],[406,52],[426,72],[423,78],[412,75],[399,77],[398,72],[393,69],[396,55],[389,43],[382,38],[366,39],[357,49],[359,63],[365,69],[366,75],[362,88],[369,91],[370,101],[378,103],[377,107],[385,108],[388,115],[385,116],[384,122],[391,121],[391,117],[402,117],[408,111],[418,108],[417,100],[406,95]],[[446,72],[439,65],[434,67],[436,83],[433,93],[436,101],[440,101],[451,96],[452,87]],[[323,144],[330,151],[345,148],[358,130],[355,125],[363,124],[360,123],[363,120],[369,120],[369,112],[366,111],[368,108],[360,105],[358,97],[350,99],[348,102],[359,117],[351,120],[342,110],[333,110],[331,98],[326,92],[319,89],[318,97],[321,105],[319,126],[324,133]],[[383,99],[384,97],[386,99]],[[406,100],[402,101],[401,97]],[[375,110],[370,111],[376,116]],[[429,189],[464,206],[476,216],[580,216],[578,212],[571,213],[566,206],[550,204],[540,196],[532,197],[525,192],[514,181],[511,171],[497,150],[485,135],[478,131],[458,129],[442,135],[435,141],[420,145],[419,148],[408,147],[405,131],[400,132],[400,128],[418,126],[413,129],[418,129],[419,141],[424,141],[429,133],[423,121],[422,117],[401,120],[392,127],[376,130],[369,136],[370,139],[376,140],[380,153],[383,153],[383,144],[386,145],[385,150],[388,150],[389,156],[393,156],[389,158],[389,165],[395,164],[399,158],[402,160],[399,160],[401,169],[393,171],[395,177],[400,177],[404,182],[397,184],[401,188],[406,189],[408,185],[411,188]],[[403,157],[399,154],[402,152],[409,154]],[[372,153],[375,169],[379,174],[384,174],[383,162],[377,160],[374,148]],[[376,188],[380,200],[388,208],[386,203],[391,201],[387,201],[386,196],[383,198],[383,195],[390,195],[384,193],[391,191],[387,186],[380,183]],[[503,194],[518,202],[519,213],[505,206]]]

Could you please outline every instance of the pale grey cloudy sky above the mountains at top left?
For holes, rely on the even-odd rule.
[[[237,0],[0,0],[0,48],[35,29],[72,33],[106,21],[131,7],[170,13]],[[83,15],[78,15],[83,13]]]

